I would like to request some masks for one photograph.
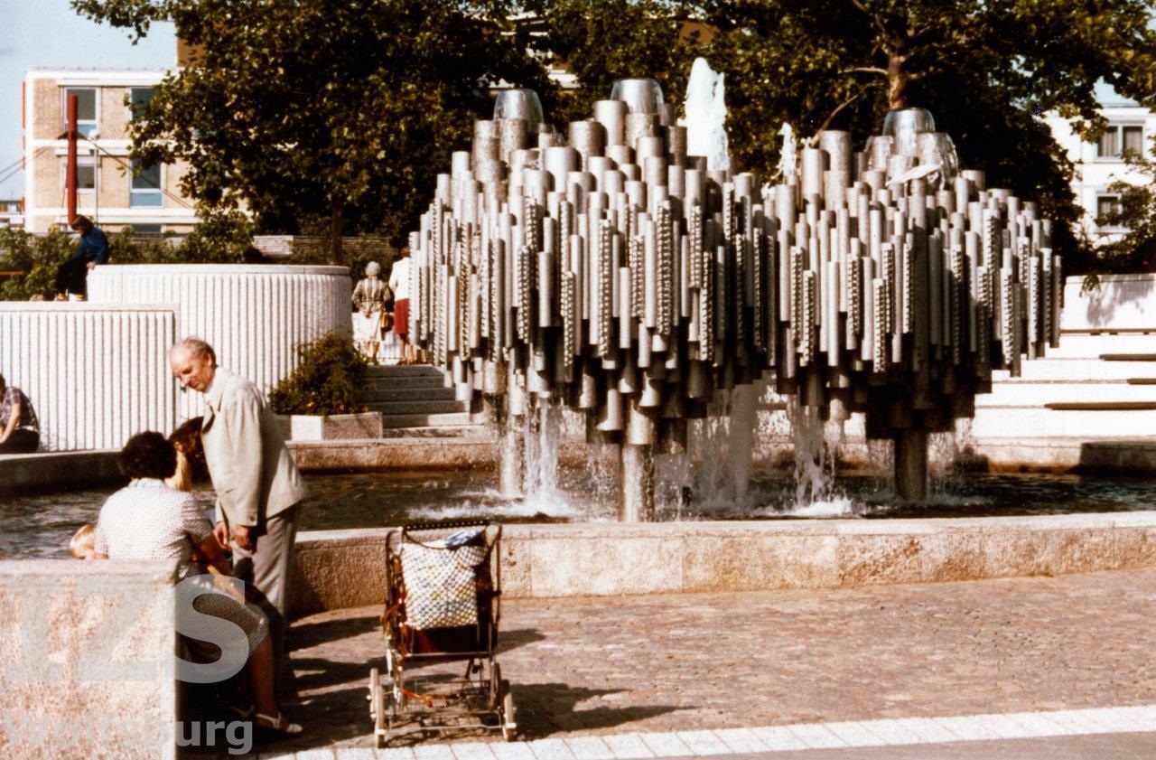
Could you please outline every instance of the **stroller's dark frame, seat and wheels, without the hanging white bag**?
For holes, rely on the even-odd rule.
[[[412,629],[406,626],[406,586],[401,571],[401,549],[406,541],[423,544],[465,527],[482,527],[484,560],[475,570],[477,588],[477,628],[468,645],[432,647],[430,641],[458,628]],[[424,540],[414,534],[428,536]],[[412,733],[452,732],[467,729],[501,730],[512,741],[517,737],[513,694],[510,681],[502,678],[497,662],[498,621],[501,619],[502,526],[486,521],[416,523],[391,530],[386,534],[385,610],[381,629],[385,634],[384,667],[373,667],[369,676],[370,717],[378,748],[394,738]],[[484,588],[492,583],[491,589]],[[418,637],[422,639],[418,639]],[[450,641],[443,639],[443,642]],[[464,643],[457,641],[454,643]],[[466,662],[461,678],[445,674],[414,676],[410,667]]]

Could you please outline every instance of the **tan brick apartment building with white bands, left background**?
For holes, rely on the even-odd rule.
[[[77,103],[76,211],[109,231],[185,234],[197,222],[180,194],[180,164],[139,167],[128,157],[133,108],[163,71],[31,69],[24,78],[24,227],[67,224],[67,101]]]

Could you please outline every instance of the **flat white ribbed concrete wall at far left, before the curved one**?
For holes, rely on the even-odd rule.
[[[171,430],[171,307],[0,303],[0,372],[28,394],[49,450],[119,449]]]

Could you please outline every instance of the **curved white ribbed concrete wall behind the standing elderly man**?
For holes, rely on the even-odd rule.
[[[350,332],[351,286],[343,266],[106,265],[89,275],[88,293],[91,303],[171,303],[178,337],[207,340],[222,367],[264,392],[297,366],[298,346]],[[181,393],[178,416],[195,416],[202,407],[200,394]]]

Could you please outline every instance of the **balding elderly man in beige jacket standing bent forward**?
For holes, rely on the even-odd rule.
[[[284,662],[286,600],[305,496],[276,418],[251,382],[217,367],[213,347],[185,338],[169,351],[172,375],[205,396],[201,441],[217,494],[217,540],[232,539],[234,573],[264,597],[279,664]]]

